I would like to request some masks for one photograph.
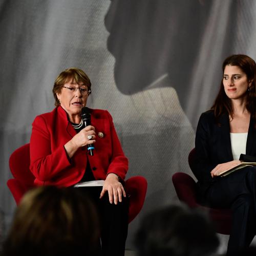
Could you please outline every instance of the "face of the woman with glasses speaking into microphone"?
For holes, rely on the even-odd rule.
[[[57,93],[62,108],[70,117],[81,114],[81,109],[86,106],[88,99],[88,87],[83,83],[65,83],[60,93]]]

